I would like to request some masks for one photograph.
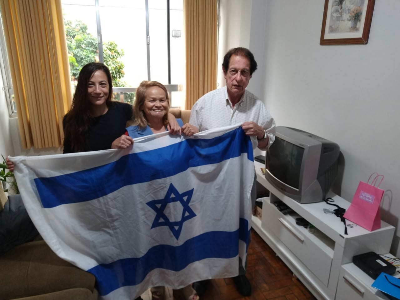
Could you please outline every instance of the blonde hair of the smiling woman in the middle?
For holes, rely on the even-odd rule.
[[[126,127],[131,126],[131,125],[138,125],[140,128],[144,128],[148,125],[148,120],[146,118],[146,114],[143,111],[143,105],[144,101],[146,101],[146,92],[147,89],[152,87],[152,86],[158,86],[159,88],[162,88],[165,92],[165,98],[167,99],[168,103],[168,110],[170,109],[170,98],[168,96],[168,91],[164,84],[161,84],[158,81],[148,81],[144,80],[140,82],[138,88],[136,89],[136,95],[135,95],[135,102],[133,104],[133,116],[128,123],[126,123]],[[167,111],[168,112],[168,111]],[[163,123],[166,125],[168,122],[168,114],[165,114],[162,117]]]

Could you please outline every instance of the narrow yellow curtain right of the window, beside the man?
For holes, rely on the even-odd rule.
[[[191,109],[198,98],[217,85],[217,0],[184,0],[186,39],[186,101]]]

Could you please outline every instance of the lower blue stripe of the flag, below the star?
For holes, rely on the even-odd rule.
[[[245,238],[248,246],[249,234],[248,221],[241,218],[240,228],[234,232],[206,232],[180,246],[156,245],[140,258],[99,264],[87,271],[96,277],[97,290],[101,296],[105,296],[122,286],[140,284],[156,268],[180,271],[192,262],[206,258],[233,258],[239,253],[238,240]]]

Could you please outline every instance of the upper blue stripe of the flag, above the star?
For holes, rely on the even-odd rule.
[[[34,182],[43,207],[51,208],[97,199],[123,186],[173,176],[192,167],[217,164],[242,153],[247,153],[247,158],[253,160],[250,138],[238,127],[216,138],[187,139],[163,148],[122,156],[96,168],[36,178]]]

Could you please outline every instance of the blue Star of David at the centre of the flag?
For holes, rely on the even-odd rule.
[[[180,194],[171,183],[163,199],[147,202],[146,204],[156,212],[156,217],[154,218],[151,228],[168,226],[172,234],[178,240],[180,232],[182,231],[183,223],[196,216],[192,208],[190,208],[189,206],[190,200],[192,200],[193,190],[194,188]],[[168,204],[178,201],[180,202],[180,204],[182,204],[183,207],[181,218],[179,221],[171,221],[169,220],[168,216],[166,216],[164,211]]]

